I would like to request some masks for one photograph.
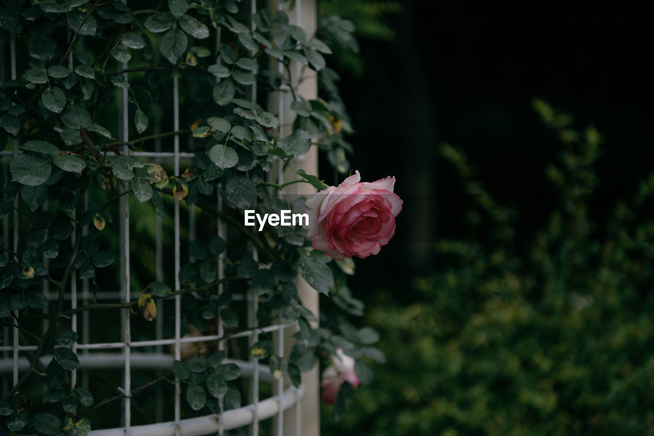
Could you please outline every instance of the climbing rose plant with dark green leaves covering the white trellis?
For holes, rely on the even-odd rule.
[[[86,0],[31,4],[8,0],[0,7],[4,53],[15,47],[17,66],[16,78],[0,84],[0,149],[16,152],[6,175],[9,181],[0,178],[0,217],[17,227],[20,235],[15,247],[0,238],[0,322],[20,329],[21,343],[35,347],[25,353],[28,370],[3,393],[0,435],[84,435],[93,427],[93,416],[100,416],[93,415],[92,409],[111,401],[96,401],[90,386],[71,384],[70,379],[70,371],[78,369],[80,362],[74,351],[78,335],[69,319],[84,311],[101,316],[96,314],[106,311],[97,309],[107,305],[97,304],[94,298],[73,309],[65,296],[77,280],[88,280],[93,292],[116,288],[118,268],[114,272],[109,267],[116,266],[114,259],[120,255],[112,241],[118,235],[118,220],[114,221],[118,202],[125,195],[133,208],[149,204],[150,212],[141,206],[135,220],[145,220],[148,213],[165,220],[176,198],[182,208],[194,206],[203,223],[220,219],[230,238],[213,236],[185,244],[182,249],[195,262],[182,265],[179,288],[169,272],[165,283],[153,281],[152,266],[135,257],[141,268],[131,270],[131,291],[139,296],[111,304],[114,313],[107,319],[117,319],[117,310],[127,308],[132,322],[151,321],[158,315],[157,300],[168,302],[181,295],[182,335],[205,332],[208,320],[216,317],[232,334],[245,328],[234,296],[253,290],[266,297],[256,314],[260,327],[299,326],[289,355],[275,354],[268,337],[245,350],[269,365],[275,377],[288,376],[299,386],[301,372],[319,360],[330,362],[338,348],[339,354],[356,362],[357,380],[366,384],[371,381],[370,362],[384,360],[373,347],[379,335],[370,328],[354,328],[347,320],[348,315],[362,315],[362,304],[347,288],[354,265],[345,257],[376,254],[392,237],[402,204],[392,194],[394,179],[366,185],[359,183],[358,172],[346,179],[344,183],[350,184],[356,178],[354,185],[370,192],[365,202],[353,206],[360,219],[353,217],[345,233],[338,233],[343,229],[333,215],[329,218],[328,231],[347,240],[310,230],[313,247],[331,257],[312,251],[312,241],[300,226],[269,226],[261,233],[243,226],[245,209],[303,210],[305,199],[289,202],[277,195],[282,185],[267,181],[275,164],[290,168],[297,177],[292,183],[303,181],[326,189],[315,174],[296,167],[294,160],[318,147],[337,172],[349,172],[346,156],[352,150],[343,134],[351,127],[336,87],[338,76],[326,67],[324,57],[332,50],[301,27],[290,25],[284,10],[264,9],[252,15],[232,0],[190,4],[169,0],[151,7]],[[349,28],[336,30],[343,33]],[[297,63],[318,72],[322,98],[307,100],[295,94],[297,78],[290,72]],[[160,131],[156,126],[174,125],[175,86],[179,86],[180,127]],[[125,90],[128,107],[122,110],[128,110],[129,120],[128,125],[120,125],[116,114]],[[277,114],[260,104],[272,92],[292,99],[296,117],[290,134],[284,135]],[[124,137],[125,130],[131,139]],[[154,151],[156,141],[165,145],[177,137],[186,142],[189,135],[192,148],[182,148],[192,157],[182,159],[179,172],[171,164],[130,155]],[[312,145],[312,140],[319,145]],[[220,207],[215,205],[216,193]],[[376,230],[366,234],[370,226]],[[212,231],[216,234],[215,228]],[[317,243],[316,238],[325,239]],[[218,258],[226,264],[224,279],[216,272]],[[322,314],[320,328],[315,327],[318,314],[298,297],[298,275],[340,311]],[[56,301],[48,302],[42,291],[44,281],[58,296]],[[216,298],[218,285],[224,286],[220,298]],[[43,318],[50,320],[45,328]],[[172,335],[173,320],[165,321],[165,334]],[[0,339],[7,344],[5,337]],[[52,360],[43,367],[41,359],[47,356]],[[182,383],[188,411],[219,413],[221,401],[223,410],[240,407],[240,371],[223,363],[224,352],[210,344],[187,357],[143,389],[176,379]],[[133,388],[117,397],[136,396],[141,390]],[[339,416],[347,392],[335,401]]]

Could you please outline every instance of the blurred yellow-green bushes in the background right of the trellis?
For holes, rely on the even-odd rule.
[[[324,435],[654,433],[654,174],[598,218],[600,135],[576,131],[543,101],[534,108],[562,144],[545,171],[559,206],[518,237],[515,211],[442,146],[473,231],[436,243],[434,272],[413,283],[419,301],[380,297],[368,318],[388,364],[354,392],[341,422],[323,407]]]

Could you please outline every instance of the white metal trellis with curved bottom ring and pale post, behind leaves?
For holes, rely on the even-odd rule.
[[[124,0],[125,1],[125,0]],[[274,6],[273,6],[274,7]],[[256,1],[251,0],[250,2],[251,12],[254,12],[256,8]],[[296,1],[294,10],[290,15],[291,22],[307,30],[307,33],[312,34],[315,32],[316,25],[316,3],[315,0],[301,0]],[[220,44],[220,29],[218,29],[216,35],[216,50]],[[10,75],[12,79],[16,78],[16,44],[14,35],[10,35]],[[1,59],[5,60],[5,53],[1,54]],[[69,62],[72,62],[72,54],[69,58]],[[218,57],[218,62],[220,62],[220,57]],[[120,69],[126,70],[128,64],[122,63],[119,65]],[[281,65],[280,65],[281,67]],[[5,68],[0,68],[2,74],[1,79],[4,80]],[[298,95],[303,95],[306,98],[315,98],[317,96],[317,87],[315,78],[305,78],[306,80],[300,80],[302,76],[301,65],[296,64],[293,72],[293,82],[296,84],[296,91]],[[124,80],[127,82],[128,74],[123,73]],[[128,107],[128,89],[123,88],[119,91],[119,102],[120,102],[120,113],[118,114],[118,125],[120,131],[120,137],[123,141],[128,141],[128,125],[129,125],[129,107]],[[256,99],[256,85],[252,86],[251,89],[251,98],[254,101]],[[273,99],[277,99],[277,104],[273,103],[273,107],[277,106],[277,112],[280,119],[280,129],[281,134],[286,135],[290,133],[288,131],[288,126],[291,125],[292,117],[294,116],[290,112],[290,102],[291,98],[288,93],[277,93],[276,96],[273,96]],[[132,114],[133,115],[133,114]],[[155,121],[155,123],[160,123],[160,121]],[[286,127],[284,127],[286,126]],[[156,127],[157,129],[158,127]],[[179,79],[177,75],[173,76],[173,129],[179,131]],[[173,150],[172,151],[163,151],[165,148],[160,140],[156,141],[153,151],[139,151],[133,152],[130,151],[128,146],[124,146],[122,153],[124,155],[131,155],[135,157],[143,158],[154,158],[157,162],[170,162],[173,161],[174,164],[174,174],[175,176],[180,175],[180,163],[182,159],[192,158],[194,153],[188,151],[181,151],[180,149],[180,135],[173,136]],[[18,141],[16,138],[13,140],[13,148],[11,151],[2,151],[0,156],[2,157],[2,166],[3,173],[5,174],[5,181],[9,178],[9,162],[11,157],[15,157],[18,154]],[[298,158],[299,159],[299,158]],[[307,155],[302,157],[302,160],[296,161],[296,164],[300,164],[307,172],[316,174],[317,172],[317,162],[316,162],[316,153],[315,149],[307,153]],[[278,165],[279,171],[277,173],[277,181],[283,183],[284,179],[290,177],[289,174],[284,174],[282,171],[281,165]],[[296,193],[301,193],[300,185],[296,184],[294,189]],[[216,202],[218,208],[222,208],[222,201],[220,198],[220,190],[216,194]],[[18,251],[18,234],[19,234],[19,216],[18,216],[18,198],[16,198],[16,206],[12,219],[5,219],[3,221],[3,236],[5,236],[5,241],[9,243],[12,241],[14,251]],[[47,207],[45,205],[44,207]],[[174,273],[175,273],[175,289],[180,288],[179,283],[179,272],[181,268],[181,258],[180,251],[182,243],[188,243],[189,241],[182,241],[181,238],[181,216],[180,216],[180,202],[175,199],[174,203]],[[188,214],[190,226],[194,226],[195,215],[192,211],[189,211]],[[163,244],[161,241],[162,236],[162,223],[157,219],[156,223],[156,234],[157,241],[156,245],[156,279],[161,280],[163,277],[163,269],[165,268],[163,263]],[[11,221],[11,225],[10,225]],[[132,291],[130,288],[129,281],[129,272],[130,272],[130,263],[129,263],[129,243],[130,243],[130,233],[129,233],[129,201],[128,196],[123,196],[120,199],[120,217],[118,219],[120,224],[120,289],[118,290],[103,290],[101,292],[95,292],[92,294],[90,292],[88,281],[81,281],[81,291],[78,290],[78,280],[77,277],[71,277],[71,288],[70,292],[65,295],[65,300],[69,302],[71,308],[77,307],[77,302],[82,300],[82,302],[89,302],[93,298],[96,300],[122,300],[123,302],[130,302],[138,298],[139,292]],[[226,239],[226,227],[220,219],[216,223],[217,234],[223,239]],[[190,232],[190,235],[194,237],[194,231]],[[71,237],[71,239],[74,236]],[[71,243],[75,243],[74,240],[71,240]],[[257,257],[255,249],[252,249],[252,257]],[[45,260],[47,261],[47,260]],[[217,275],[218,279],[224,278],[224,264],[222,258],[218,259]],[[301,279],[300,279],[301,281]],[[48,287],[48,282],[44,280],[43,290],[48,298],[48,300],[56,300],[58,296],[54,292],[50,292]],[[298,290],[300,291],[300,296],[309,309],[314,313],[318,312],[317,304],[317,293],[308,287],[306,283],[298,283]],[[218,285],[218,295],[222,292],[222,285]],[[248,322],[249,326],[254,326],[256,322],[256,305],[257,298],[254,294],[248,294],[245,298],[244,304],[248,307]],[[46,309],[47,310],[47,306]],[[103,369],[118,369],[122,368],[124,371],[124,379],[122,386],[119,387],[120,392],[123,392],[125,395],[123,399],[123,413],[121,419],[120,427],[111,428],[111,429],[99,429],[94,430],[90,434],[95,436],[118,436],[118,435],[205,435],[217,433],[218,435],[223,435],[224,431],[240,428],[243,426],[249,426],[250,435],[257,436],[259,431],[259,422],[266,420],[268,418],[275,418],[275,434],[277,436],[281,435],[295,435],[295,436],[314,436],[319,434],[319,421],[318,421],[318,369],[315,368],[310,373],[303,375],[303,384],[302,388],[296,389],[288,380],[284,379],[274,379],[267,367],[259,366],[257,360],[250,360],[249,362],[238,362],[228,358],[226,362],[233,362],[241,367],[241,373],[243,377],[251,379],[250,383],[250,393],[248,405],[241,407],[240,409],[235,409],[231,411],[223,411],[222,413],[215,415],[209,414],[207,416],[201,416],[199,418],[181,418],[181,388],[179,381],[175,384],[175,395],[173,398],[174,401],[174,416],[172,421],[168,422],[156,422],[155,424],[146,424],[141,426],[133,426],[131,424],[131,373],[134,369],[160,369],[160,370],[169,370],[171,368],[173,358],[179,360],[181,356],[181,346],[184,343],[198,343],[201,341],[215,341],[216,339],[221,338],[224,335],[223,324],[218,319],[217,321],[217,332],[214,335],[203,335],[196,337],[182,337],[181,336],[181,296],[175,296],[175,335],[171,339],[163,339],[163,305],[160,304],[158,307],[158,317],[156,321],[156,335],[154,339],[147,340],[132,340],[131,335],[131,322],[129,309],[124,309],[121,314],[121,337],[120,341],[113,342],[93,342],[91,340],[89,331],[91,319],[88,315],[88,312],[84,312],[81,318],[81,335],[80,342],[73,345],[74,349],[79,352],[78,356],[80,358],[80,367],[78,371],[72,371],[71,381],[73,384],[77,381],[78,372],[82,375],[82,382],[88,381],[88,373],[92,370],[103,370]],[[16,313],[18,316],[18,313]],[[47,321],[44,321],[44,328],[47,327]],[[78,317],[77,314],[71,317],[71,328],[73,331],[78,332]],[[266,328],[260,329],[261,332],[275,333],[276,334],[276,344],[277,352],[279,354],[288,355],[290,346],[292,345],[292,340],[289,340],[294,332],[290,331],[292,328],[284,328],[283,326],[269,326]],[[3,374],[2,383],[3,390],[7,392],[11,386],[16,384],[19,379],[21,372],[24,372],[29,367],[28,360],[21,355],[23,351],[33,351],[36,350],[35,346],[27,346],[20,344],[20,338],[18,335],[18,330],[14,329],[12,335],[9,335],[9,329],[4,329],[5,344],[0,346],[0,373]],[[257,340],[258,332],[248,331],[242,332],[241,334],[233,335],[232,338],[237,337],[249,337],[249,343],[253,344]],[[226,349],[226,341],[222,340],[218,342],[218,349]],[[174,356],[167,354],[166,347],[172,345],[174,348]],[[112,352],[112,350],[114,352]],[[120,350],[120,354],[116,353],[116,350]],[[152,351],[154,350],[154,351]],[[41,358],[41,363],[47,365],[51,357]],[[5,375],[10,373],[10,377]],[[275,394],[267,399],[260,399],[259,385],[260,382],[271,384],[274,388]],[[164,401],[164,399],[161,399]],[[222,411],[222,401],[220,402],[220,409]],[[161,414],[158,414],[158,421],[160,421]],[[300,419],[302,418],[302,419]],[[118,421],[118,417],[116,417]]]

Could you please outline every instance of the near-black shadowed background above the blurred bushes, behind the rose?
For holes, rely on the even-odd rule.
[[[532,110],[533,97],[574,115],[576,129],[602,133],[598,216],[651,170],[647,14],[477,16],[406,1],[385,22],[394,40],[359,37],[363,76],[339,69],[356,130],[352,168],[364,181],[396,176],[405,202],[392,249],[357,262],[358,298],[370,301],[375,287],[406,295],[411,278],[434,266],[433,241],[463,231],[460,183],[438,157],[441,142],[464,149],[475,178],[515,207],[519,234],[528,238],[545,222],[557,200],[544,169],[560,144]]]

